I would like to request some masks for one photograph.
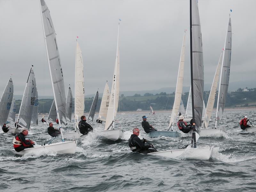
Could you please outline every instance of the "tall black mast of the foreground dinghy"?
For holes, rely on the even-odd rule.
[[[192,1],[190,0],[190,72],[191,72],[191,98],[192,98],[192,123],[193,133],[192,140],[194,148],[196,148],[196,127],[195,127],[195,112],[194,112],[194,87],[193,87],[193,55],[192,55]]]

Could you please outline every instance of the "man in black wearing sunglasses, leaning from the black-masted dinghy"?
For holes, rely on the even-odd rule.
[[[152,144],[149,144],[147,140],[142,139],[138,137],[140,134],[140,130],[138,128],[134,128],[132,130],[132,135],[130,139],[128,140],[128,144],[132,152],[139,152],[143,154],[147,153],[153,153],[156,152],[156,149],[149,149],[149,148],[154,148]]]

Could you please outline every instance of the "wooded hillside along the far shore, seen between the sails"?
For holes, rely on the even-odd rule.
[[[225,107],[247,107],[247,106],[256,106],[256,88],[248,89],[250,91],[236,91],[230,92],[227,95]],[[188,101],[189,92],[185,92],[182,95],[182,100],[186,108]],[[174,103],[175,93],[166,94],[161,92],[159,94],[145,93],[144,96],[140,94],[135,94],[134,96],[125,97],[123,94],[119,98],[118,111],[136,111],[138,108],[142,110],[149,110],[151,105],[154,110],[170,110],[172,109]],[[204,92],[204,103],[207,105],[209,97],[209,91]],[[216,94],[218,97],[218,92]],[[39,99],[38,112],[39,113],[49,113],[52,106],[53,99]],[[93,97],[86,98],[84,101],[85,112],[89,112],[92,105]],[[21,100],[16,101],[17,113],[20,110]],[[101,98],[98,100],[96,111],[100,110]],[[217,99],[215,99],[214,107],[217,107]],[[74,111],[74,99],[73,99],[73,111]]]

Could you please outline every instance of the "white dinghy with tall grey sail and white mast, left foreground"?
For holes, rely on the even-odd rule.
[[[27,153],[40,152],[43,150],[50,150],[60,154],[74,154],[76,152],[76,140],[64,141],[62,128],[66,126],[66,97],[64,88],[64,79],[60,62],[59,48],[57,45],[56,34],[52,23],[50,11],[44,0],[40,1],[40,11],[43,23],[44,42],[46,47],[48,65],[50,69],[50,77],[52,82],[52,91],[54,96],[54,103],[59,119],[59,127],[61,133],[61,142],[37,145],[34,148],[27,148],[23,151],[14,153],[24,155]],[[30,121],[29,121],[30,122]]]

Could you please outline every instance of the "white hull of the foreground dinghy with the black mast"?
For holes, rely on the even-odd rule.
[[[186,148],[186,149],[176,149],[168,151],[159,151],[154,153],[148,153],[152,156],[163,156],[168,158],[185,158],[194,160],[208,160],[212,154],[212,147],[204,148]]]

